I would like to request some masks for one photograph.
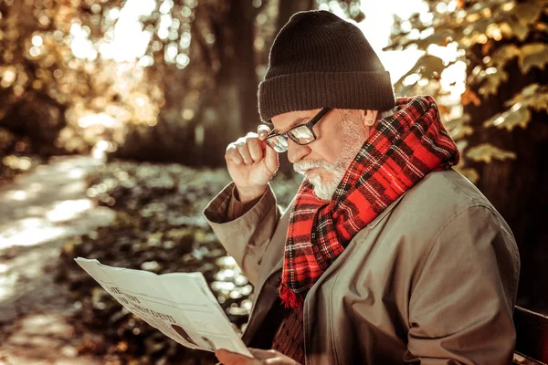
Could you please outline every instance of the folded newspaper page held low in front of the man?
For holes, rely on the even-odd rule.
[[[230,325],[202,273],[149,271],[75,261],[135,316],[191,349],[228,349],[253,357]]]

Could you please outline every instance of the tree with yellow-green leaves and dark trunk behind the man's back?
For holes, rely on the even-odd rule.
[[[522,255],[519,303],[532,308],[548,305],[547,6],[545,0],[427,2],[423,14],[395,17],[386,47],[425,51],[396,92],[437,97],[463,152],[460,171],[511,225]],[[448,51],[454,57],[445,57]],[[456,99],[449,91],[455,85],[443,78],[458,73],[458,64],[466,81]]]

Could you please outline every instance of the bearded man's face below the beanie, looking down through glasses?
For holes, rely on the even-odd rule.
[[[285,132],[306,123],[318,110],[290,111],[272,118],[274,128]],[[293,169],[305,175],[314,185],[314,193],[329,201],[344,173],[369,136],[365,120],[374,120],[376,112],[368,110],[338,110],[327,113],[313,127],[316,141],[301,146],[289,140],[288,159]]]

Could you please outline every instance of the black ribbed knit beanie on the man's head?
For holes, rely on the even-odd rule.
[[[390,74],[362,31],[334,14],[299,12],[270,48],[269,69],[258,85],[261,120],[322,107],[390,110]]]

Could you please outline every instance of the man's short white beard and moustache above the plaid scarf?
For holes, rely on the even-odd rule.
[[[342,130],[344,148],[336,162],[304,160],[293,164],[293,170],[304,176],[307,176],[306,171],[309,169],[321,169],[331,175],[328,181],[323,181],[324,179],[318,174],[307,176],[309,182],[314,186],[314,194],[324,202],[329,202],[332,199],[333,193],[337,190],[348,167],[364,144],[363,135],[359,133],[359,130],[356,130],[353,123],[343,125]]]

